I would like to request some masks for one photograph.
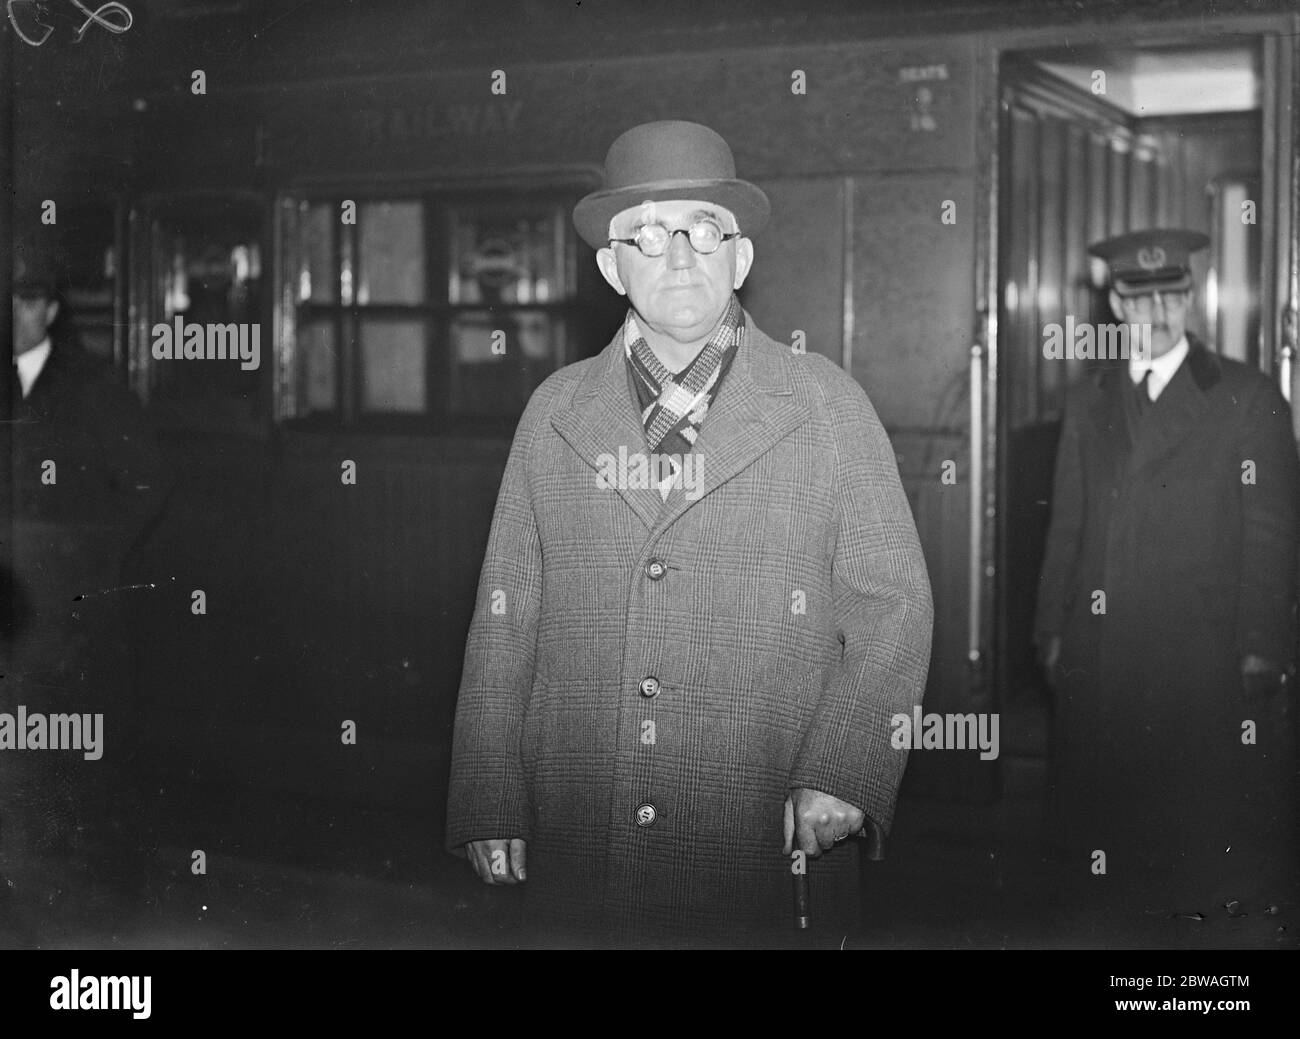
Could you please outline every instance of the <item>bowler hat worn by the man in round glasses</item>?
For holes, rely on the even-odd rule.
[[[699,199],[729,209],[741,234],[767,224],[767,195],[736,177],[736,160],[716,133],[698,122],[644,122],[620,135],[604,156],[604,187],[573,207],[573,225],[593,248],[610,241],[610,220],[644,202]]]

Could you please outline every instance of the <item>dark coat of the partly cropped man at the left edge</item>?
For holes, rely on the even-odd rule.
[[[17,382],[17,380],[16,380]],[[103,759],[4,756],[0,850],[78,845],[131,814],[122,780],[139,732],[130,706],[124,559],[169,488],[139,402],[112,368],[56,337],[13,410],[12,637],[0,709],[104,714]],[[138,823],[133,818],[131,823]],[[113,857],[94,869],[105,875]]]

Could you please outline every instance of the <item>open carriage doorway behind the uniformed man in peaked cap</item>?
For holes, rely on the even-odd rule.
[[[1115,363],[1049,359],[1043,349],[1053,325],[1115,320],[1088,246],[1147,228],[1206,234],[1188,328],[1212,350],[1273,371],[1274,229],[1258,213],[1277,190],[1266,183],[1277,150],[1266,49],[1261,36],[1234,36],[1002,56],[994,633],[1013,752],[1046,753],[1032,625],[1065,391]]]

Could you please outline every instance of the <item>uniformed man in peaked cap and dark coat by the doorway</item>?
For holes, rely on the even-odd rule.
[[[1152,230],[1092,248],[1149,356],[1067,397],[1036,620],[1067,873],[1192,919],[1258,914],[1296,867],[1300,463],[1278,388],[1186,329],[1205,243]]]

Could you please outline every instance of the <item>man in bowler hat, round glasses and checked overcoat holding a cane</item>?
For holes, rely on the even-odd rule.
[[[855,923],[932,606],[871,403],[736,300],[766,195],[653,122],[575,224],[630,303],[551,376],[502,481],[456,713],[447,847],[526,879],[540,934],[771,940],[792,870]],[[841,841],[845,841],[841,844]],[[796,853],[802,854],[796,854]]]

